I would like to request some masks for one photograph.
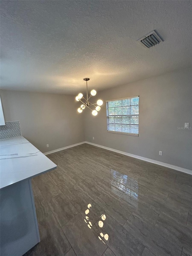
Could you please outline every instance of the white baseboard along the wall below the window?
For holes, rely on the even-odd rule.
[[[139,156],[139,155],[133,155],[133,154],[130,154],[130,153],[127,153],[127,152],[124,152],[124,151],[108,148],[108,147],[101,146],[101,145],[91,143],[91,142],[88,142],[88,141],[85,141],[85,143],[96,146],[96,147],[100,147],[100,148],[103,148],[103,149],[107,149],[107,150],[110,150],[110,151],[113,151],[113,152],[116,152],[116,153],[119,153],[119,154],[122,154],[122,155],[128,155],[128,156],[138,158],[138,159],[146,161],[146,162],[150,162],[150,163],[153,163],[153,164],[158,164],[158,165],[161,165],[161,166],[164,166],[164,167],[168,167],[170,169],[174,169],[174,170],[177,170],[177,171],[180,171],[180,172],[183,172],[183,173],[188,173],[188,174],[192,175],[192,170],[184,169],[184,168],[179,167],[179,166],[175,166],[175,165],[172,165],[172,164],[166,164],[166,163],[156,161],[156,160],[153,160],[153,159],[150,159],[150,158],[145,158],[145,157],[142,157],[142,156]]]

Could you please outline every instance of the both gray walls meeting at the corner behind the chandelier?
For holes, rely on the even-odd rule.
[[[20,120],[23,136],[42,152],[86,140],[192,170],[192,130],[177,129],[192,127],[191,89],[190,69],[107,89],[93,97],[104,101],[97,116],[77,113],[72,95],[1,90],[1,101],[5,121]],[[135,95],[139,137],[108,133],[105,100]]]

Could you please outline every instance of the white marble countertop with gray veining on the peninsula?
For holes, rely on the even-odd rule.
[[[0,142],[0,188],[56,167],[56,164],[22,136]]]

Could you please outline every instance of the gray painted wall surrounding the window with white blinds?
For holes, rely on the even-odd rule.
[[[185,122],[192,127],[191,89],[187,69],[101,91],[94,97],[104,101],[98,115],[85,112],[85,140],[192,170],[192,130],[177,129]],[[105,101],[136,95],[139,137],[108,133]]]

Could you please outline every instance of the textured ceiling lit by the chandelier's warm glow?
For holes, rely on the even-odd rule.
[[[75,94],[191,64],[191,1],[1,1],[1,89]],[[136,41],[152,30],[164,42]]]

